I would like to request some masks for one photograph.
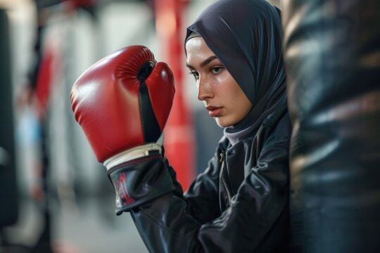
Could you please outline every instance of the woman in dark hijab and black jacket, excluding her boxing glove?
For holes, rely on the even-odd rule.
[[[151,252],[288,250],[281,35],[279,10],[264,0],[217,1],[188,27],[186,65],[224,136],[186,193],[177,188],[131,212]]]

